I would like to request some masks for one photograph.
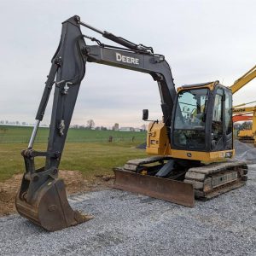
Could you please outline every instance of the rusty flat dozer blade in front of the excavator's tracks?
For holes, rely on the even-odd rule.
[[[115,189],[148,195],[186,207],[194,207],[195,195],[192,184],[127,172],[122,168],[114,168],[113,172],[115,174],[113,188]]]

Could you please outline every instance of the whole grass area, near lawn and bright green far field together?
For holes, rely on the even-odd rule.
[[[4,135],[0,135],[0,181],[16,173],[24,172],[24,162],[20,151],[26,148],[32,131],[31,127],[4,127],[8,130],[4,131]],[[35,149],[46,149],[48,131],[48,128],[39,129]],[[108,143],[110,135],[113,136],[113,143]],[[134,142],[131,141],[132,137],[135,137]],[[70,129],[60,169],[79,170],[88,179],[98,174],[113,174],[114,166],[121,166],[126,160],[146,155],[144,150],[136,148],[145,140],[145,132]],[[44,166],[44,158],[37,158],[36,165]]]

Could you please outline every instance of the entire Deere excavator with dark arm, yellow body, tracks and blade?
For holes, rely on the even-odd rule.
[[[83,34],[81,26],[119,46],[102,44]],[[94,44],[86,44],[89,40]],[[51,60],[36,124],[28,147],[21,152],[26,172],[15,200],[21,216],[49,231],[93,218],[73,210],[63,180],[58,177],[79,87],[90,62],[147,73],[160,91],[163,116],[148,125],[146,150],[150,156],[115,167],[114,188],[193,207],[195,197],[211,199],[246,183],[246,162],[232,160],[234,87],[213,81],[185,84],[176,90],[164,55],[101,31],[75,15],[62,23],[60,44]],[[53,87],[48,146],[46,151],[37,151],[33,144]],[[143,119],[148,120],[147,109],[143,110]],[[44,167],[36,168],[37,157],[45,158]]]

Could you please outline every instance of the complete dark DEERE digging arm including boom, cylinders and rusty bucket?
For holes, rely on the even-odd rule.
[[[86,26],[125,48],[102,44],[96,38],[84,36],[80,26]],[[84,38],[97,45],[87,45]],[[20,215],[31,219],[46,230],[61,230],[82,223],[90,216],[73,211],[67,201],[64,183],[58,178],[58,166],[73,115],[79,87],[85,73],[86,62],[130,69],[148,73],[157,82],[166,127],[171,125],[172,107],[176,97],[172,73],[163,55],[155,55],[151,47],[133,44],[109,32],[102,32],[80,21],[79,16],[62,23],[60,44],[52,58],[52,65],[45,83],[36,125],[28,148],[22,151],[26,173],[16,197]],[[54,102],[46,152],[32,149],[40,121],[44,118],[49,95],[55,84]],[[167,131],[168,132],[168,131]],[[45,166],[36,169],[34,158],[45,157]]]

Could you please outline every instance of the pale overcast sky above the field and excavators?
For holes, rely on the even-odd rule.
[[[214,80],[231,85],[256,64],[255,9],[254,0],[0,0],[0,120],[34,122],[61,22],[73,15],[165,55],[177,88]],[[256,79],[233,100],[256,101]],[[51,104],[52,97],[43,123],[49,124]],[[149,119],[161,119],[158,86],[148,74],[87,63],[72,124],[94,119],[140,127],[143,108]]]

